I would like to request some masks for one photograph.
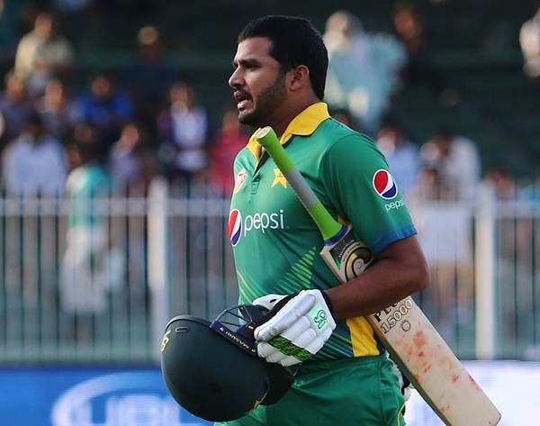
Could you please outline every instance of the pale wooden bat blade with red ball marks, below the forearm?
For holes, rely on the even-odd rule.
[[[449,426],[494,426],[500,412],[411,297],[367,316],[375,333]]]

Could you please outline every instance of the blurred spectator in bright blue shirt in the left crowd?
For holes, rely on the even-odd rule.
[[[92,77],[90,87],[76,100],[74,119],[95,126],[105,144],[117,140],[121,126],[132,118],[130,98],[105,73]]]

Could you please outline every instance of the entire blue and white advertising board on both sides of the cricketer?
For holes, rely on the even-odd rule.
[[[499,426],[536,419],[540,363],[465,367],[502,412]],[[4,367],[0,396],[0,426],[211,426],[175,403],[158,367]],[[416,392],[405,418],[408,426],[443,425]]]

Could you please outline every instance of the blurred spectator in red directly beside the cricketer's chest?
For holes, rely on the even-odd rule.
[[[229,196],[234,187],[233,163],[238,151],[247,145],[248,136],[238,122],[236,108],[223,114],[223,123],[211,148],[211,180],[217,194]]]

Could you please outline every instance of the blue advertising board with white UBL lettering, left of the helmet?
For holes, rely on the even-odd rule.
[[[169,396],[158,368],[0,368],[0,424],[209,426]]]

